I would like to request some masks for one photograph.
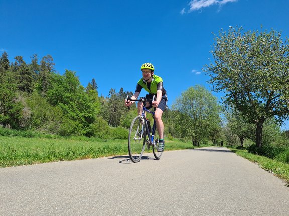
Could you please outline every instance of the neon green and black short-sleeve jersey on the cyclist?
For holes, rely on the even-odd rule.
[[[137,82],[136,91],[140,92],[142,88],[144,88],[150,94],[157,94],[158,89],[162,90],[162,95],[166,94],[166,90],[163,87],[163,79],[157,75],[153,75],[151,83],[144,82],[143,79],[141,78]]]

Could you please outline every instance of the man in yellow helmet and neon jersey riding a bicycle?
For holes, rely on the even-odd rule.
[[[131,99],[137,99],[142,88],[144,88],[149,94],[146,95],[147,99],[152,99],[153,96],[156,96],[156,100],[152,103],[146,103],[146,108],[150,109],[152,106],[155,108],[155,120],[157,123],[157,129],[159,132],[159,147],[158,151],[161,152],[164,150],[164,124],[162,121],[163,111],[166,109],[167,105],[167,94],[166,90],[163,87],[163,79],[157,75],[154,75],[154,66],[151,63],[144,63],[141,65],[142,78],[137,82],[136,90]],[[125,105],[130,106],[134,101],[126,101]],[[138,114],[141,115],[143,108],[143,103],[137,104]]]

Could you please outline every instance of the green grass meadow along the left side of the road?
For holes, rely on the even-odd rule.
[[[190,148],[193,148],[190,142],[180,142],[178,139],[166,140],[165,150]],[[147,152],[152,152],[152,150]],[[127,154],[127,140],[0,136],[0,167]]]

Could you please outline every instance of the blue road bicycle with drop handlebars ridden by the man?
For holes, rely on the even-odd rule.
[[[153,154],[157,160],[161,158],[163,151],[158,152],[159,147],[159,139],[155,139],[155,132],[156,132],[156,120],[154,118],[155,112],[150,111],[145,107],[146,102],[154,101],[155,95],[153,99],[147,99],[146,97],[140,97],[138,100],[133,100],[129,96],[126,97],[126,100],[142,102],[142,114],[141,116],[136,116],[130,125],[129,134],[128,134],[128,152],[130,159],[132,162],[136,163],[139,162],[143,152],[145,151],[145,147],[150,149],[151,146],[153,148]],[[128,109],[130,107],[128,106]],[[150,128],[150,121],[148,121],[145,117],[145,112],[151,113],[154,118],[153,127]],[[146,138],[147,136],[147,138]]]

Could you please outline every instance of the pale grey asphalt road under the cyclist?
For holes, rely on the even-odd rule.
[[[0,168],[0,215],[289,215],[289,188],[226,148]]]

